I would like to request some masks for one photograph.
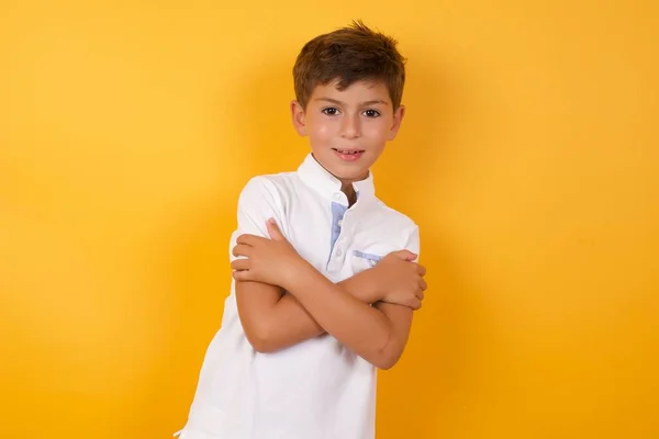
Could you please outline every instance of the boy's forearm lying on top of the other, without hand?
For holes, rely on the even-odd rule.
[[[389,318],[342,286],[332,283],[313,267],[295,272],[284,288],[310,317],[326,333],[376,367],[389,367],[391,342],[395,342]]]

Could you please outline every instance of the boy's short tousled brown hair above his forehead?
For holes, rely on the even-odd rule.
[[[298,102],[305,109],[315,87],[335,80],[338,90],[358,81],[382,81],[396,110],[405,83],[405,58],[395,48],[396,44],[361,21],[316,36],[304,45],[293,67]]]

